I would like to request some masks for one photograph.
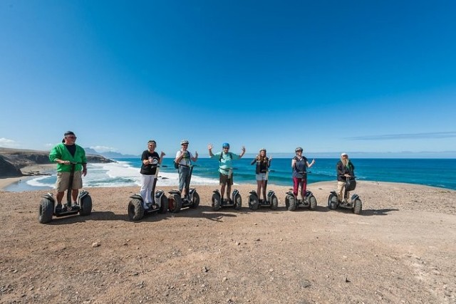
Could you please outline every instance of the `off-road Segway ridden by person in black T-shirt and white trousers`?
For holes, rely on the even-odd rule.
[[[154,197],[153,203],[147,203],[148,209],[144,209],[144,200],[140,194],[133,194],[130,196],[131,201],[128,203],[128,217],[131,221],[139,221],[142,219],[145,214],[151,214],[158,212],[160,214],[166,213],[168,209],[168,200],[164,195],[165,192],[163,190],[157,190],[155,192],[155,185],[157,184],[157,177],[158,172],[160,169],[160,165],[157,163],[152,164],[157,167],[157,171],[155,171],[155,179],[154,184],[152,185],[152,196]]]

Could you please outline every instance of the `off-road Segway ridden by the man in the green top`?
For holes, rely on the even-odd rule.
[[[61,209],[54,209],[56,199],[53,194],[47,193],[41,196],[38,221],[41,224],[46,224],[52,221],[52,216],[68,216],[72,214],[79,214],[81,216],[88,216],[92,212],[92,198],[88,195],[86,190],[81,190],[78,195],[78,201],[76,204],[71,204],[71,192],[73,190],[73,179],[74,169],[76,164],[82,164],[81,162],[71,162],[70,179],[68,181],[68,189],[66,192],[66,204]]]

